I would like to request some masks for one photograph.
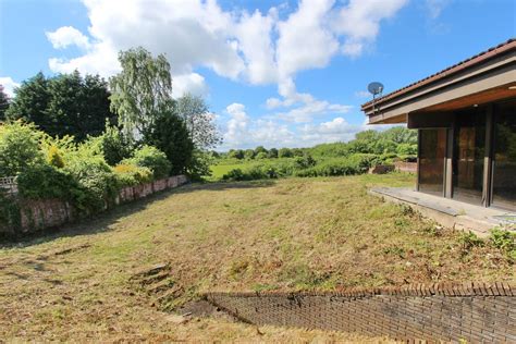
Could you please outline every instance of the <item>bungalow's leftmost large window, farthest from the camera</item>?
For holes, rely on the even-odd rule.
[[[419,191],[442,196],[446,130],[420,130],[419,135]]]

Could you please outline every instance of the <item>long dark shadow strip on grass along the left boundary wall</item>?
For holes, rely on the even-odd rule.
[[[120,205],[105,212],[96,213],[91,217],[83,218],[75,222],[66,223],[58,228],[47,229],[19,237],[0,238],[0,249],[23,248],[51,242],[61,237],[93,235],[97,233],[108,232],[111,230],[111,226],[113,224],[119,222],[120,219],[145,210],[148,205],[157,200],[167,199],[168,197],[171,197],[175,194],[187,194],[202,191],[222,192],[226,189],[259,188],[269,187],[274,184],[274,181],[269,180],[253,182],[207,182],[187,184],[177,188],[163,191],[128,204]]]

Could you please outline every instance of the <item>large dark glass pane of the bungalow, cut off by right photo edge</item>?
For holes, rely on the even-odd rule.
[[[516,209],[516,100],[494,110],[493,206]]]

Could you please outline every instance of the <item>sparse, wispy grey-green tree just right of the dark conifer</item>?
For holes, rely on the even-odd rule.
[[[177,113],[185,121],[196,148],[209,149],[222,143],[214,116],[201,97],[186,94],[179,98]]]

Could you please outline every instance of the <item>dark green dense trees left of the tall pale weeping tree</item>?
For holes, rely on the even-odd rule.
[[[108,84],[98,75],[75,71],[46,78],[38,73],[15,90],[8,118],[34,122],[51,136],[72,135],[77,142],[102,133],[109,110]]]

